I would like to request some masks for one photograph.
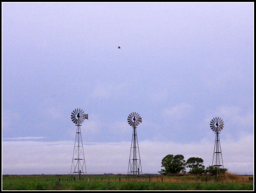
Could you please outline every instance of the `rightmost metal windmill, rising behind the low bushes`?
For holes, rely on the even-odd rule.
[[[211,130],[216,133],[213,158],[212,158],[212,166],[215,166],[215,170],[217,172],[215,176],[216,179],[218,179],[220,168],[224,169],[221,147],[220,147],[220,137],[219,137],[219,133],[221,130],[223,130],[223,127],[224,127],[224,121],[220,117],[215,117],[210,122]]]

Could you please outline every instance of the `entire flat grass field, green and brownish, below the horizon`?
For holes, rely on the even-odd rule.
[[[133,179],[122,175],[87,175],[81,181],[69,180],[68,175],[3,175],[2,179],[2,190],[253,190],[253,181],[206,182],[198,176],[158,176],[151,177],[150,182],[149,177]]]

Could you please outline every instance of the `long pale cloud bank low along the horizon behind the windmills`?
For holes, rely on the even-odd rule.
[[[120,143],[84,143],[87,173],[127,173],[130,141]],[[143,173],[157,173],[168,154],[201,157],[204,165],[212,163],[214,142],[197,143],[139,141]],[[235,148],[234,148],[235,147]],[[3,141],[3,174],[68,174],[74,141]],[[253,136],[222,140],[224,167],[238,174],[253,174]]]

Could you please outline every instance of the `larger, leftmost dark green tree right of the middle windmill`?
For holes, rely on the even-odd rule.
[[[180,173],[186,168],[186,161],[184,160],[183,155],[166,155],[162,159],[162,166],[164,169],[161,169],[158,173],[166,175],[167,173]]]

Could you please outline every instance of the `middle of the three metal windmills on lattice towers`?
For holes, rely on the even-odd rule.
[[[140,176],[142,175],[141,162],[140,162],[140,151],[138,145],[138,138],[136,132],[136,126],[141,123],[140,114],[133,112],[128,115],[128,123],[133,127],[133,137],[128,165],[128,175]]]

